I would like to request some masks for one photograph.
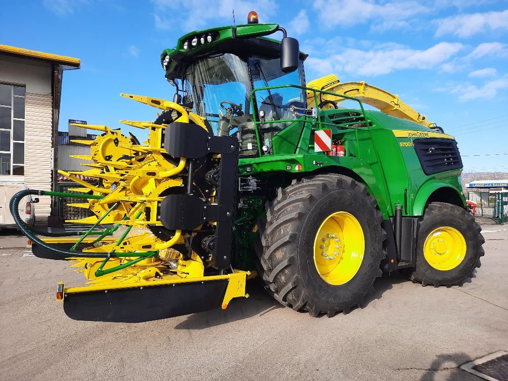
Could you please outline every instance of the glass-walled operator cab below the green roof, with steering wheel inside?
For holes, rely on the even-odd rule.
[[[285,73],[281,70],[280,44],[265,39],[249,40],[243,40],[241,47],[230,47],[231,52],[208,55],[190,63],[182,76],[182,103],[192,104],[193,111],[210,123],[215,135],[236,135],[240,155],[258,156],[260,144],[271,147],[273,136],[291,124],[284,122],[293,118],[291,106],[306,105],[305,90],[263,88],[305,86],[304,57],[299,58],[296,70]],[[255,45],[252,40],[256,40]],[[259,90],[253,94],[251,103],[253,89]],[[280,122],[263,123],[256,134],[255,113],[258,121]]]

